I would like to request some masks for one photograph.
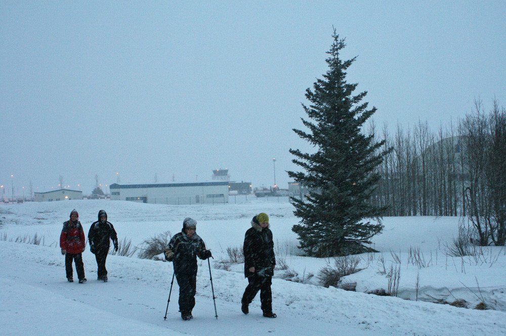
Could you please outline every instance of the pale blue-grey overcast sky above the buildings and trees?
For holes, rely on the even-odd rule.
[[[504,1],[0,2],[0,184],[287,187],[332,26],[374,120],[434,130],[506,105]],[[357,91],[358,92],[358,91]],[[11,175],[14,175],[11,178]],[[80,187],[77,185],[80,184]]]

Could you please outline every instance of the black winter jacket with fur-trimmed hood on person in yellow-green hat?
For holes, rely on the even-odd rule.
[[[259,276],[274,275],[276,257],[274,256],[272,231],[269,226],[262,228],[257,220],[257,216],[251,220],[251,227],[244,235],[245,277],[252,276],[255,273]],[[255,267],[255,273],[249,271],[251,267]]]

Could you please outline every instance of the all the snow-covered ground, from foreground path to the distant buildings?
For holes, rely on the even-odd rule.
[[[218,319],[207,261],[199,263],[191,321],[183,321],[178,312],[176,281],[167,320],[163,319],[173,275],[170,263],[109,256],[109,281],[104,283],[96,280],[95,258],[87,249],[83,261],[88,282],[66,282],[64,257],[57,245],[62,223],[73,208],[86,234],[104,209],[118,238],[131,239],[136,246],[167,230],[175,234],[185,217],[195,218],[197,233],[215,257],[210,265]],[[242,245],[252,216],[259,212],[269,214],[278,263],[284,261],[288,267],[276,270],[273,279],[276,319],[262,317],[258,297],[248,315],[241,313],[247,284],[242,265],[232,265],[229,271],[214,268],[228,258],[228,247]],[[385,218],[384,232],[373,244],[380,252],[360,255],[359,267],[365,269],[344,279],[356,283],[357,292],[318,284],[318,271],[334,260],[300,256],[297,235],[291,231],[295,223],[291,205],[276,199],[214,206],[102,200],[0,205],[0,334],[506,334],[504,250],[486,248],[476,257],[448,257],[446,246],[457,235],[458,218]],[[39,246],[9,242],[35,233],[43,237]],[[390,269],[399,271],[398,297],[365,294],[387,290]],[[287,272],[299,282],[284,280]],[[457,299],[465,300],[469,308],[483,302],[492,310],[428,302]]]

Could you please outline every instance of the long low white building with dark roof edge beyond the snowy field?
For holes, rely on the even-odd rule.
[[[228,203],[228,182],[117,184],[109,186],[111,200],[153,204]]]

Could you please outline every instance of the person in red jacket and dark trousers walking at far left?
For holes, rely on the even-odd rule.
[[[85,283],[85,266],[82,263],[82,252],[86,248],[86,238],[79,222],[79,214],[75,209],[70,212],[70,220],[63,223],[62,233],[60,234],[60,247],[62,248],[62,255],[65,256],[65,271],[67,272],[68,282],[74,281],[72,277],[72,261],[74,261],[79,283]]]

